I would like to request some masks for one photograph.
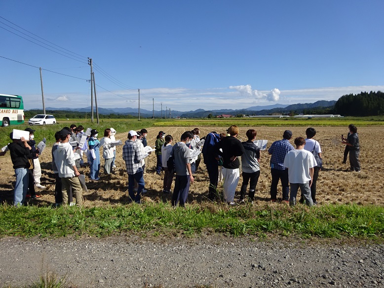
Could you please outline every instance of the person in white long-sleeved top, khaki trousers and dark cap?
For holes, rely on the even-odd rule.
[[[80,173],[75,164],[75,155],[69,143],[72,132],[63,129],[59,132],[61,142],[53,151],[57,171],[62,182],[63,205],[68,204],[68,194],[70,187],[75,194],[76,206],[82,205],[82,187],[78,179]]]

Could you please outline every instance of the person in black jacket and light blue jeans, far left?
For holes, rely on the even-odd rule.
[[[9,134],[9,137],[13,140],[13,142],[8,144],[8,148],[16,175],[13,205],[18,206],[24,204],[27,195],[29,182],[28,168],[30,167],[28,159],[33,159],[36,153],[31,152],[32,148],[24,137],[13,139],[13,132]]]

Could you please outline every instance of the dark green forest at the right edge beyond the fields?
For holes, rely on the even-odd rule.
[[[335,104],[335,113],[343,116],[384,115],[384,93],[371,91],[343,95]]]

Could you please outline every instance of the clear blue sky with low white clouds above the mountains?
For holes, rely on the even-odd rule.
[[[1,0],[0,56],[44,69],[45,107],[90,106],[87,57],[103,108],[138,108],[138,88],[148,110],[313,103],[384,90],[383,11],[382,0]],[[0,93],[42,108],[39,69],[1,57]]]

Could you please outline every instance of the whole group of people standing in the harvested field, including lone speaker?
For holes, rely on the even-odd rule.
[[[351,170],[360,171],[359,142],[357,128],[349,125],[348,137],[343,137],[343,144],[349,149]],[[115,167],[115,129],[108,128],[104,131],[104,137],[98,140],[98,131],[92,129],[87,136],[87,144],[79,147],[81,137],[85,135],[84,128],[79,125],[65,127],[55,134],[56,142],[52,147],[52,169],[56,177],[55,186],[55,205],[71,204],[73,202],[72,192],[75,194],[76,205],[82,203],[82,187],[78,180],[80,175],[78,168],[84,165],[82,154],[87,155],[87,162],[90,166],[90,179],[99,180],[100,171],[100,148],[103,148],[104,171],[110,175]],[[33,133],[35,130],[27,128],[30,132],[30,139],[13,139],[8,144],[11,159],[14,164],[16,174],[14,204],[23,204],[29,190],[30,197],[39,197],[35,193],[34,184],[41,185],[33,177],[34,169],[28,169],[30,163],[36,163],[38,159],[38,149],[35,147]],[[142,193],[145,190],[144,173],[147,156],[151,154],[151,149],[146,150],[148,131],[129,131],[128,140],[124,143],[122,158],[125,161],[128,173],[128,193],[133,201],[141,203]],[[220,178],[223,182],[224,200],[229,205],[236,205],[234,202],[235,190],[239,181],[240,167],[243,182],[240,188],[240,201],[254,201],[256,185],[260,177],[260,148],[255,144],[257,132],[249,129],[246,132],[247,141],[240,142],[237,139],[239,129],[232,125],[227,133],[218,134],[215,131],[208,133],[205,137],[199,137],[199,129],[186,131],[181,136],[180,142],[173,144],[173,137],[160,131],[156,137],[155,154],[157,174],[163,177],[163,193],[172,193],[171,185],[175,176],[175,186],[172,195],[172,205],[185,206],[187,202],[190,183],[194,181],[199,162],[200,154],[197,159],[191,161],[191,151],[201,150],[204,164],[209,177],[208,198],[215,200],[218,197],[217,187]],[[316,205],[316,182],[322,166],[322,152],[320,144],[313,140],[316,135],[314,128],[306,130],[307,138],[297,137],[294,141],[296,149],[290,144],[292,132],[284,131],[283,139],[275,141],[268,149],[270,158],[270,200],[277,201],[277,185],[279,180],[282,185],[282,200],[296,205],[298,188],[300,187],[302,196],[299,202],[309,206]],[[201,141],[204,140],[204,141]],[[79,153],[80,157],[75,157]],[[168,167],[169,158],[173,159],[173,167]],[[33,162],[29,161],[33,159]],[[38,169],[39,165],[33,165]],[[39,177],[40,177],[39,176]],[[39,179],[38,177],[38,179]],[[32,184],[31,184],[32,183]],[[245,197],[248,189],[248,197]],[[43,187],[43,186],[42,186]],[[291,193],[289,195],[289,190]],[[247,199],[246,199],[247,198]]]

